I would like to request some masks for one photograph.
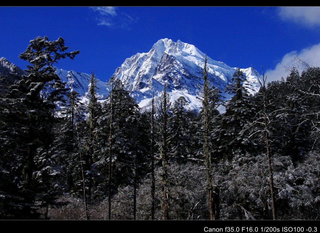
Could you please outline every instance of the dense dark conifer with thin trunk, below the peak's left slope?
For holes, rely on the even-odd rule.
[[[109,206],[111,206],[112,190],[116,190],[119,185],[126,186],[134,183],[132,168],[139,143],[137,139],[132,138],[132,135],[139,134],[136,122],[139,118],[139,107],[119,79],[111,77],[109,86],[111,90],[102,107],[102,116],[98,120],[101,150],[95,166],[107,180]],[[105,169],[106,164],[108,169]],[[100,194],[104,195],[106,187],[101,180],[97,183],[100,183]],[[110,212],[111,209],[109,209],[111,219]]]

